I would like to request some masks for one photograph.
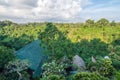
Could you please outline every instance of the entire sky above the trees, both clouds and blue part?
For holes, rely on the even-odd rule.
[[[120,21],[120,0],[0,0],[0,20],[26,22]]]

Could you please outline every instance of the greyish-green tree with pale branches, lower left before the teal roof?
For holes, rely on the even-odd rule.
[[[20,80],[25,79],[29,80],[29,74],[25,71],[28,69],[29,64],[27,61],[10,61],[6,66],[4,70],[4,77],[7,80],[14,79],[14,80]]]

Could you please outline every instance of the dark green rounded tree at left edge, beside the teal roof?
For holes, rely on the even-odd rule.
[[[4,46],[0,46],[0,68],[4,68],[9,61],[13,60],[13,50]]]

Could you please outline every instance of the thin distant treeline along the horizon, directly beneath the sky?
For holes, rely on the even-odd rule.
[[[49,22],[14,23],[14,22],[9,21],[9,20],[4,20],[4,21],[0,21],[0,27],[10,26],[10,25],[16,25],[16,26],[22,26],[22,25],[29,26],[29,25],[32,25],[32,26],[35,26],[35,25],[43,25],[43,24],[46,24],[46,23],[49,23]],[[85,22],[77,22],[77,23],[64,23],[64,22],[63,23],[59,23],[59,22],[56,23],[56,22],[54,22],[54,24],[60,25],[60,26],[66,25],[66,27],[68,27],[68,26],[70,26],[70,27],[80,27],[80,26],[84,26],[84,27],[93,27],[93,26],[104,27],[104,26],[120,25],[120,22],[115,22],[114,20],[109,21],[109,20],[107,20],[105,18],[101,18],[98,21],[88,19]]]

